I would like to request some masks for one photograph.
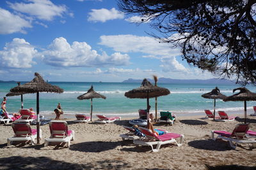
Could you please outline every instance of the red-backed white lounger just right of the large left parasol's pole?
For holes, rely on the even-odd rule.
[[[67,143],[67,147],[70,146],[70,141],[74,141],[74,130],[68,130],[68,123],[66,121],[50,121],[49,123],[51,136],[44,139],[44,146],[48,146],[49,143]]]

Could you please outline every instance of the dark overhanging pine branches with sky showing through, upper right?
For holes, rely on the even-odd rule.
[[[120,10],[147,16],[191,66],[240,84],[256,84],[256,0],[118,0]]]

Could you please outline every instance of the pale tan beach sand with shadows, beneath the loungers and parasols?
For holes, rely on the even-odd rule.
[[[184,144],[161,146],[153,153],[149,146],[135,146],[132,141],[122,141],[122,125],[129,125],[129,118],[109,124],[74,123],[67,121],[75,131],[75,140],[66,146],[44,147],[44,138],[50,136],[49,125],[41,126],[40,145],[7,147],[6,139],[13,136],[10,125],[0,125],[0,169],[205,169],[205,164],[216,169],[250,169],[255,167],[256,148],[237,146],[236,150],[225,141],[212,141],[211,130],[232,132],[243,120],[217,122],[201,119],[202,116],[177,118],[173,126],[156,124],[177,134],[184,134]],[[256,130],[256,118],[248,116],[251,130]],[[32,125],[32,128],[36,128]],[[236,166],[236,167],[234,167]],[[254,166],[254,167],[253,167]]]

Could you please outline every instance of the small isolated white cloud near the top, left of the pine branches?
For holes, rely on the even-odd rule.
[[[107,20],[114,19],[124,19],[124,13],[119,12],[115,8],[111,10],[107,10],[105,8],[101,8],[100,10],[92,9],[92,12],[89,12],[89,21],[94,22],[106,22]]]

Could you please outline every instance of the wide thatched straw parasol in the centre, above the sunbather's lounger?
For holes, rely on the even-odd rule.
[[[149,114],[149,98],[161,97],[169,95],[170,91],[166,88],[160,88],[157,86],[152,86],[152,84],[144,79],[141,83],[140,88],[132,89],[131,91],[126,92],[124,95],[128,98],[147,98],[147,120]],[[148,120],[149,123],[149,120]]]

